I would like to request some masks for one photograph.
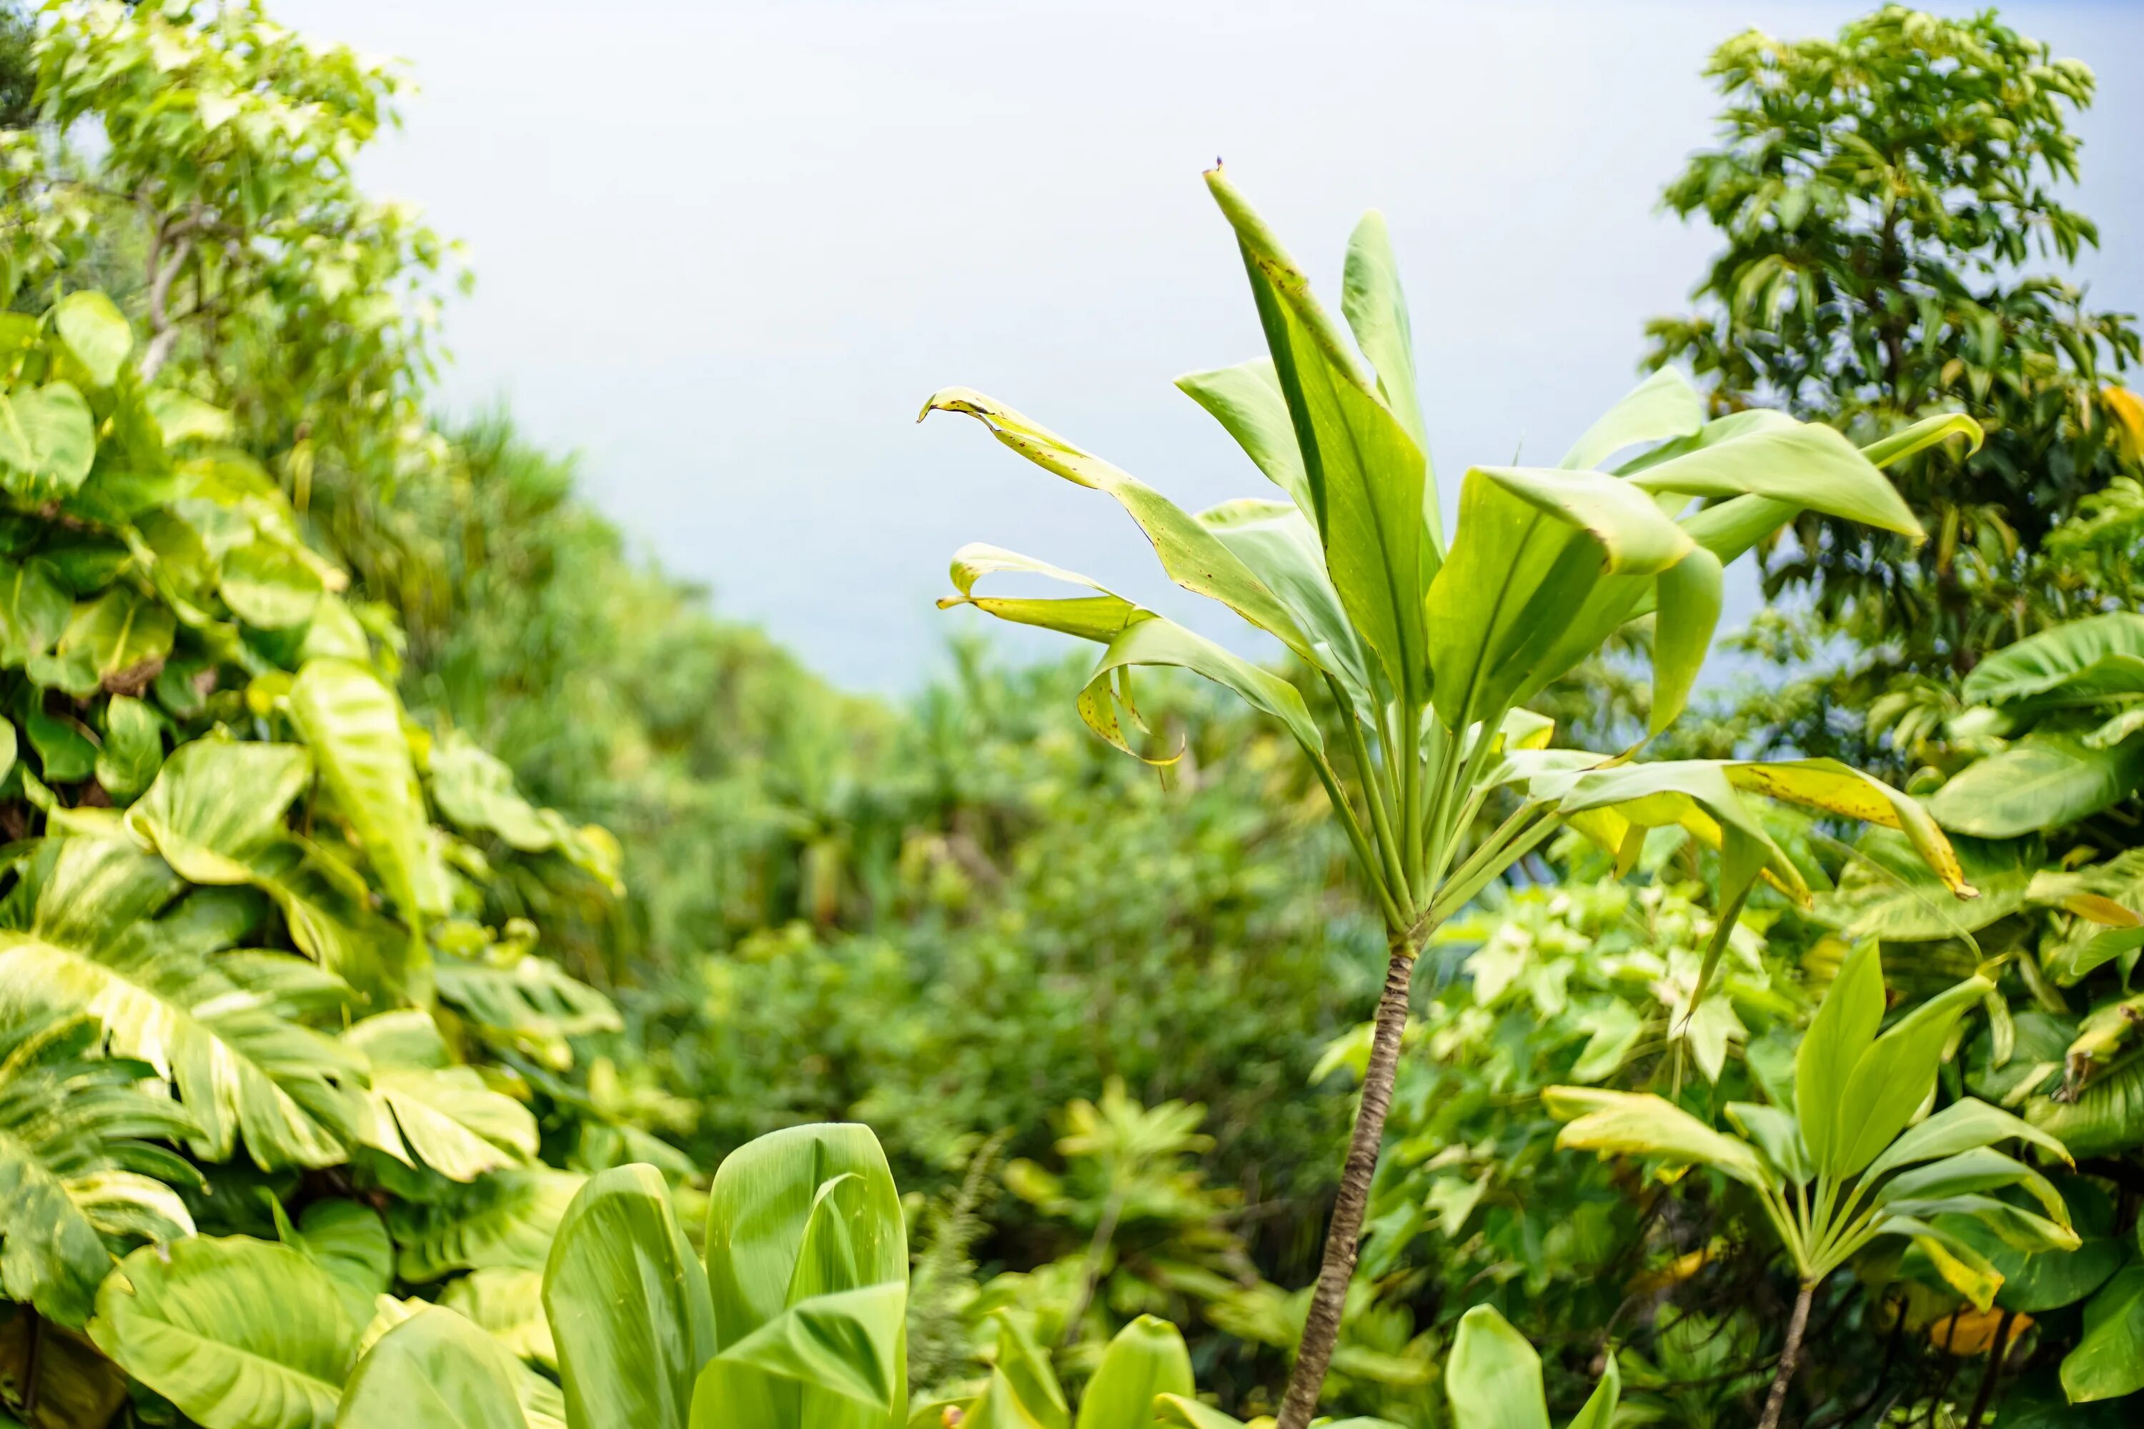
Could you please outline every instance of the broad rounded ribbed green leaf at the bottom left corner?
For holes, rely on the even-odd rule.
[[[326,1429],[356,1337],[326,1270],[249,1236],[135,1251],[90,1320],[105,1354],[206,1429]]]

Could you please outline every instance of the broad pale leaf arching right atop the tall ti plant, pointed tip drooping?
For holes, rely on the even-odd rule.
[[[1707,433],[1711,439],[1704,439]],[[1644,491],[1692,497],[1769,497],[1912,540],[1925,538],[1897,488],[1829,426],[1780,413],[1737,413],[1713,422],[1707,433],[1694,450],[1649,463],[1629,480]]]

